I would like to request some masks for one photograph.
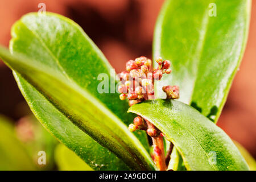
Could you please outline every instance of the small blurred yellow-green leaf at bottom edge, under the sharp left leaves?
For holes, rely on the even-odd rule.
[[[55,161],[61,171],[92,171],[83,160],[63,144],[55,149]]]

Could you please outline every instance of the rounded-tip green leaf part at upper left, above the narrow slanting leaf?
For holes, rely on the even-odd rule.
[[[115,84],[115,72],[111,71],[113,68],[100,49],[71,19],[53,13],[46,13],[45,16],[30,13],[14,24],[11,35],[11,52],[23,53],[35,63],[45,64],[56,74],[74,81],[100,100],[126,125],[133,121],[134,115],[126,113],[127,102],[119,100],[117,92],[112,93],[115,91],[112,86]],[[98,92],[98,84],[102,79],[98,77],[100,74],[108,76],[109,93]],[[149,151],[146,133],[135,135]]]

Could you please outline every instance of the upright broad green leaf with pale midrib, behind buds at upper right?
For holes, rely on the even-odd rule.
[[[173,72],[156,82],[156,96],[166,97],[164,85],[179,85],[180,101],[217,122],[245,50],[250,7],[250,0],[167,0],[153,55],[170,60]]]

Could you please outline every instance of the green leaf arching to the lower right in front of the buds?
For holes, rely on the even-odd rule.
[[[131,106],[129,112],[158,127],[177,148],[188,170],[249,169],[228,135],[189,105],[150,100]]]

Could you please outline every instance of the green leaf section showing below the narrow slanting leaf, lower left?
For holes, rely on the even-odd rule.
[[[28,105],[44,127],[95,170],[129,170],[107,148],[85,134],[22,77],[14,73]],[[98,155],[101,154],[101,155]]]

